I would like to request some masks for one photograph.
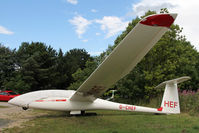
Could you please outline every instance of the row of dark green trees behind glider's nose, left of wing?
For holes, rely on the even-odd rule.
[[[20,93],[65,89],[73,81],[72,73],[84,68],[91,59],[84,49],[73,49],[63,54],[44,43],[24,42],[17,51],[1,45],[1,89]]]

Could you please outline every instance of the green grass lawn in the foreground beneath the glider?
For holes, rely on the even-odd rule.
[[[118,111],[96,111],[97,116],[66,117],[50,112],[26,122],[10,133],[198,133],[199,117],[188,114],[153,115]]]

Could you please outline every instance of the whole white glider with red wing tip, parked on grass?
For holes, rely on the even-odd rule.
[[[124,110],[151,113],[180,113],[177,84],[189,77],[165,81],[161,107],[149,108],[115,103],[100,99],[111,85],[127,75],[147,52],[157,43],[174,22],[177,14],[155,14],[143,18],[96,68],[88,79],[74,90],[41,90],[29,92],[11,99],[8,103],[23,109],[70,111],[82,114],[87,110]]]

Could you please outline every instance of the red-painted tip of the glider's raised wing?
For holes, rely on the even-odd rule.
[[[169,28],[177,17],[177,13],[154,14],[145,17],[140,21],[141,24],[149,26],[161,26]]]

